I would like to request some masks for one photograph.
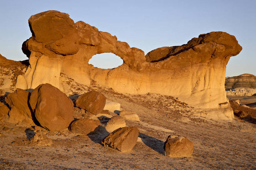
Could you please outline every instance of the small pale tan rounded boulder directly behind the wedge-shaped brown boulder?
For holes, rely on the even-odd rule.
[[[125,120],[123,117],[121,116],[114,116],[112,117],[107,125],[105,126],[106,130],[108,131],[108,133],[113,132],[114,130],[118,129],[118,128],[123,128],[126,126]]]

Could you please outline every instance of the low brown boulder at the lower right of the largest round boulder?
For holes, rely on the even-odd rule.
[[[72,122],[68,129],[75,134],[87,135],[90,132],[93,132],[99,125],[99,120],[85,118]]]

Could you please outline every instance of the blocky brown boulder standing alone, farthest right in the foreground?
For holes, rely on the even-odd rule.
[[[164,153],[168,157],[188,157],[194,150],[194,144],[188,138],[169,135],[164,143]]]

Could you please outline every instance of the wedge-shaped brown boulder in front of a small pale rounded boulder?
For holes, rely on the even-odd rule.
[[[139,130],[137,127],[123,127],[116,129],[102,143],[104,146],[117,149],[121,152],[128,152],[133,149],[137,142]]]

